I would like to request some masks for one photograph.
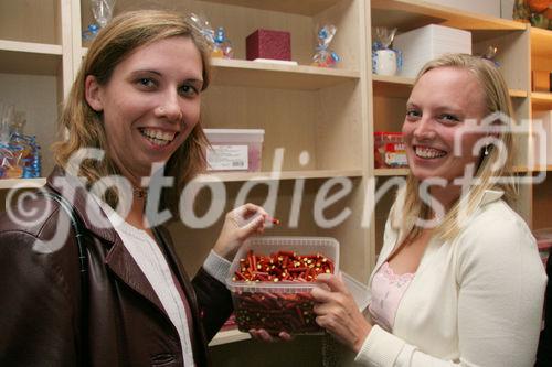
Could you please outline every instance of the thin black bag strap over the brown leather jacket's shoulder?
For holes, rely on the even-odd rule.
[[[63,211],[67,214],[71,227],[75,233],[76,245],[78,248],[78,262],[81,267],[81,347],[79,358],[81,366],[88,365],[87,360],[87,345],[86,341],[88,338],[88,257],[86,251],[86,245],[84,238],[87,237],[87,231],[81,220],[81,217],[73,209],[73,205],[63,197],[62,195],[49,192],[40,191],[41,196],[53,199],[60,204]]]

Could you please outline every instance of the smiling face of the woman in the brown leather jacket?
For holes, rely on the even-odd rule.
[[[138,47],[105,85],[87,77],[86,100],[103,114],[107,154],[127,179],[139,183],[185,141],[200,118],[202,72],[192,40],[174,36]]]

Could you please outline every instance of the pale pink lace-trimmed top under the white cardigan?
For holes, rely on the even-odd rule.
[[[373,322],[388,332],[393,330],[396,309],[413,278],[414,273],[395,274],[388,261],[372,278],[372,300],[368,311]]]

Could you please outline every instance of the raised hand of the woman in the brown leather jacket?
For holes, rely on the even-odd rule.
[[[261,206],[250,203],[229,212],[213,250],[232,261],[244,240],[264,231],[267,217],[268,214]]]

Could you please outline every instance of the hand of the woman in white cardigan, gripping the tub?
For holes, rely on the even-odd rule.
[[[328,285],[329,290],[315,288],[311,292],[315,301],[315,313],[318,315],[316,322],[326,328],[338,341],[359,353],[372,325],[359,311],[354,299],[347,290],[346,284],[339,276],[320,274],[318,283]]]

